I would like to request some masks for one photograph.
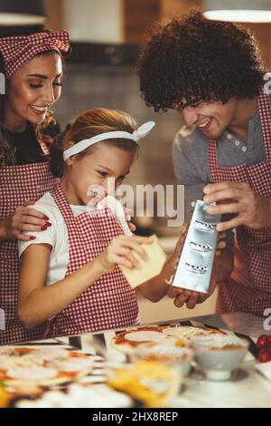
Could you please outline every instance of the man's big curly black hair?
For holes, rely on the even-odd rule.
[[[254,36],[200,12],[156,25],[137,61],[140,90],[154,111],[254,98],[266,73]],[[180,102],[185,100],[185,104]]]

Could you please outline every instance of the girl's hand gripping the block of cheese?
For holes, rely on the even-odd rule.
[[[98,261],[104,273],[114,270],[119,266],[126,266],[129,269],[140,269],[140,263],[135,259],[132,250],[142,257],[144,260],[148,260],[148,256],[145,253],[145,249],[141,247],[141,244],[152,243],[151,237],[137,237],[137,236],[119,236],[114,238],[106,250],[98,257]]]

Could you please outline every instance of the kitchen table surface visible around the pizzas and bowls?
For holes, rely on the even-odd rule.
[[[172,407],[271,407],[271,381],[255,368],[257,365],[256,341],[260,334],[271,334],[271,320],[245,313],[228,313],[222,315],[204,315],[169,323],[208,325],[224,330],[227,334],[237,334],[249,342],[249,353],[240,368],[232,373],[228,382],[210,382],[203,373],[192,374],[183,385],[182,392],[171,401]],[[145,324],[146,325],[146,324]],[[152,325],[152,324],[149,324]],[[135,328],[135,327],[133,327]],[[110,344],[117,330],[104,333],[82,334],[72,338],[62,337],[50,341],[23,344],[32,347],[64,347],[90,353],[95,361],[95,368],[88,377],[81,379],[93,384],[106,382],[105,367],[113,363],[126,363],[126,355],[118,352]],[[17,345],[16,345],[17,346]],[[104,406],[104,405],[103,405]]]

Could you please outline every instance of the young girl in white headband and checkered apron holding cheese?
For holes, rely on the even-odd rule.
[[[87,207],[89,188],[107,193],[109,178],[115,188],[125,179],[138,133],[126,113],[95,109],[79,115],[52,144],[51,171],[61,182],[34,205],[51,218],[51,227],[19,244],[18,313],[26,328],[46,324],[44,336],[56,336],[139,324],[135,291],[118,266],[138,267],[131,249],[146,259],[141,244],[150,239],[124,236],[107,209],[100,214]],[[148,299],[166,294],[164,280],[173,274],[180,244],[161,275],[139,287]]]

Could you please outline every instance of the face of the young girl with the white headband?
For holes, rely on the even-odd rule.
[[[108,190],[116,190],[126,179],[134,158],[135,153],[102,142],[83,157],[70,157],[61,179],[70,204],[87,205],[95,197],[93,193],[88,195],[89,189],[98,187],[105,196]]]

